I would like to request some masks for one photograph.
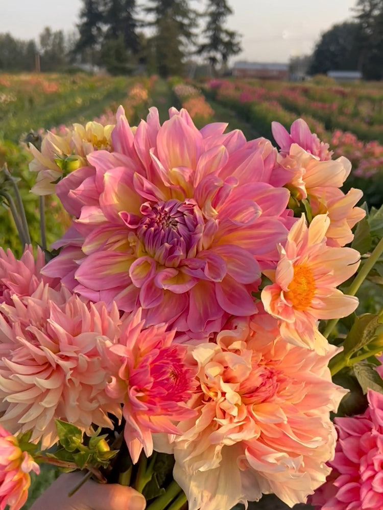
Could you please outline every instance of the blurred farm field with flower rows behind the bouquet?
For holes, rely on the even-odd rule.
[[[94,119],[104,125],[113,123],[119,104],[123,104],[131,125],[145,117],[150,106],[159,109],[161,122],[167,117],[167,109],[176,106],[186,108],[198,127],[226,121],[230,130],[240,129],[248,139],[272,139],[273,120],[289,129],[296,118],[302,117],[312,131],[330,144],[336,156],[351,160],[348,187],[363,189],[369,206],[379,207],[383,201],[383,86],[328,87],[233,79],[190,84],[180,79],[0,75],[0,168],[7,163],[20,179],[27,219],[34,225],[34,243],[40,241],[39,211],[38,199],[29,193],[34,175],[28,169],[32,157],[23,141],[26,135],[30,129],[37,134],[44,129],[60,134],[64,125],[85,124]],[[50,243],[60,236],[68,218],[55,197],[48,196],[45,202]],[[16,230],[5,208],[0,210],[0,221],[0,245],[19,254]],[[366,295],[369,293],[366,291]],[[374,305],[381,308],[376,300]],[[43,484],[50,483],[54,476],[51,470],[37,479],[26,510]],[[254,510],[269,508],[288,507],[273,497],[254,505]]]

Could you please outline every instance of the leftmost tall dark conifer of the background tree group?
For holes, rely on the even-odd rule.
[[[79,39],[74,54],[81,54],[85,60],[95,64],[103,38],[104,2],[103,0],[82,0],[80,11]]]

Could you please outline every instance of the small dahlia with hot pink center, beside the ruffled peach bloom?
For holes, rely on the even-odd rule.
[[[180,434],[175,423],[196,415],[186,406],[197,386],[195,369],[185,363],[186,347],[172,343],[166,324],[142,329],[141,310],[122,324],[118,345],[106,358],[113,360],[107,394],[123,403],[124,436],[134,463],[141,450],[153,453],[152,432]],[[112,353],[112,355],[110,355]]]

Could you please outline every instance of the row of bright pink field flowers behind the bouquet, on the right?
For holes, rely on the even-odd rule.
[[[271,137],[270,124],[272,119],[278,120],[283,125],[289,125],[295,118],[295,114],[283,108],[277,99],[277,87],[280,84],[272,84],[276,90],[270,96],[266,84],[262,87],[242,81],[214,80],[204,85],[206,93],[213,94],[217,100],[230,105],[240,115],[249,120],[258,130],[259,134]],[[270,97],[273,97],[270,99]],[[383,145],[377,141],[363,142],[349,132],[335,130],[333,133],[325,129],[324,124],[318,120],[316,110],[313,115],[303,115],[304,120],[321,138],[331,144],[336,155],[345,155],[352,163],[352,172],[348,179],[350,186],[363,188],[366,199],[371,205],[380,205],[379,182],[383,184]],[[371,183],[374,176],[375,183]]]

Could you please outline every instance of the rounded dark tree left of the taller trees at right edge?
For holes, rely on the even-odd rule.
[[[317,43],[309,74],[325,74],[330,70],[355,70],[360,59],[360,48],[357,38],[360,25],[355,22],[344,22],[334,25],[322,34]]]

